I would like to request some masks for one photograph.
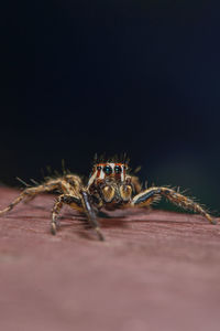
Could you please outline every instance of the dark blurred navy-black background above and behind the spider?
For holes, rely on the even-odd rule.
[[[127,151],[220,210],[219,19],[212,0],[2,3],[0,181]]]

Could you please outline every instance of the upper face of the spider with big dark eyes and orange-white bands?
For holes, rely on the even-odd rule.
[[[127,169],[128,166],[125,163],[97,163],[92,169],[88,185],[90,186],[95,180],[123,182],[125,180]]]

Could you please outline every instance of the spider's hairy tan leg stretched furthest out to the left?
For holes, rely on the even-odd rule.
[[[70,181],[70,183],[69,183]],[[11,211],[16,204],[19,204],[22,200],[24,201],[30,201],[33,200],[37,194],[41,193],[48,193],[52,191],[61,191],[62,193],[70,193],[73,191],[74,186],[73,183],[75,183],[76,189],[79,190],[79,183],[80,179],[77,175],[68,175],[65,178],[58,178],[56,180],[48,180],[45,183],[33,186],[33,188],[28,188],[21,192],[21,194],[12,202],[10,203],[6,209],[0,211],[0,215]],[[74,190],[76,191],[76,190]]]

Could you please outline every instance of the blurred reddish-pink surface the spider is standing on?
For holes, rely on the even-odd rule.
[[[1,188],[0,207],[18,193]],[[41,195],[0,218],[0,330],[219,330],[219,225],[116,211],[101,243],[68,207],[52,236],[53,203]]]

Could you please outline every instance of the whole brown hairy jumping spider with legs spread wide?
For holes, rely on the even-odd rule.
[[[94,163],[87,185],[80,177],[64,173],[56,179],[47,179],[44,183],[26,188],[0,215],[11,211],[22,200],[30,201],[40,193],[58,192],[59,195],[52,210],[51,233],[56,234],[61,209],[68,204],[87,215],[88,222],[100,241],[105,236],[97,221],[98,212],[132,206],[150,206],[162,196],[185,210],[191,210],[205,216],[210,223],[216,221],[195,201],[166,186],[152,186],[142,191],[138,177],[129,174],[128,161],[98,161]]]

